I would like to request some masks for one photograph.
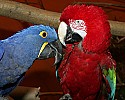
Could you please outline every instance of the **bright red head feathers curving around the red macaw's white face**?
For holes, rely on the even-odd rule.
[[[110,45],[110,26],[105,12],[96,6],[68,6],[62,12],[60,21],[69,24],[69,19],[83,20],[87,27],[87,36],[83,47],[87,51],[101,53]]]

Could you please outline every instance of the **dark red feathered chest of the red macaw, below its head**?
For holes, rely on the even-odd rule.
[[[74,98],[79,95],[82,100],[97,94],[102,82],[100,56],[85,53],[78,47],[72,49],[72,46],[69,46],[65,52],[66,55],[59,68],[64,92],[70,93]]]

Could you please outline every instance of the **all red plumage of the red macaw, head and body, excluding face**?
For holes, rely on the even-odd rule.
[[[73,100],[97,100],[103,84],[102,67],[115,66],[107,50],[111,37],[107,16],[99,7],[74,5],[65,8],[60,17],[68,25],[70,19],[83,20],[87,35],[82,41],[83,50],[78,44],[66,45],[64,60],[58,69],[60,84]]]

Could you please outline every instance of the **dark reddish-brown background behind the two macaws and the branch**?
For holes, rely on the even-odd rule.
[[[13,0],[27,5],[54,12],[62,12],[69,4],[84,2],[102,7],[109,20],[125,21],[125,0]],[[43,15],[44,16],[44,15]],[[31,23],[0,16],[0,39],[5,39]],[[125,37],[112,36],[110,51],[117,62],[118,100],[125,100]],[[54,59],[37,60],[28,70],[20,86],[41,87],[41,92],[61,92],[61,87],[52,66]],[[58,100],[61,95],[43,95],[41,100]]]

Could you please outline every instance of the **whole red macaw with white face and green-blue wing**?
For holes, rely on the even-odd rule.
[[[93,5],[69,5],[61,14],[58,36],[65,46],[57,69],[66,94],[62,99],[114,100],[116,62],[108,50],[111,33],[105,12]]]

